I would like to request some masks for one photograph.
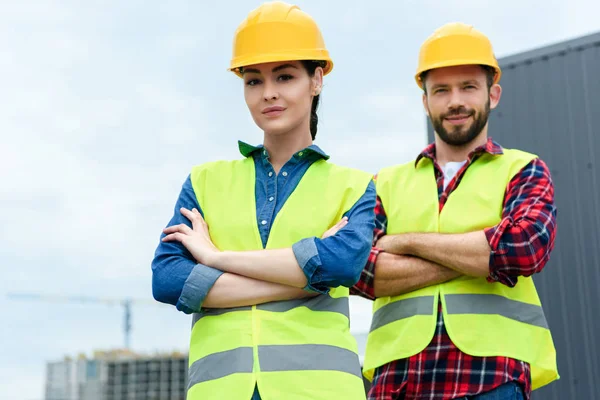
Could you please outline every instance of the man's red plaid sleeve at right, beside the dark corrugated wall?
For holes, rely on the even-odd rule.
[[[509,182],[502,220],[485,230],[492,249],[489,282],[513,287],[540,272],[554,248],[556,206],[550,171],[539,158]]]

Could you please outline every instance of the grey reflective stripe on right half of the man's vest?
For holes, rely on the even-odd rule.
[[[529,325],[548,329],[542,307],[496,294],[447,294],[448,314],[498,314]]]

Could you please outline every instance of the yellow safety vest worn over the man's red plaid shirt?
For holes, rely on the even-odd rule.
[[[430,159],[382,170],[377,193],[388,217],[387,234],[464,233],[496,225],[506,186],[535,157],[511,149],[503,155],[482,155],[469,166],[441,213]],[[461,351],[528,362],[533,389],[558,379],[556,350],[531,277],[519,277],[510,288],[466,276],[374,302],[364,360],[368,379],[375,368],[415,355],[430,343],[439,300],[448,335]]]

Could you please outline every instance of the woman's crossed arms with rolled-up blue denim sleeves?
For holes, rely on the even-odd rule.
[[[184,184],[152,262],[154,297],[192,313],[352,286],[371,247],[375,197],[370,185],[348,218],[321,238],[306,238],[287,249],[220,252],[210,241],[191,185]]]

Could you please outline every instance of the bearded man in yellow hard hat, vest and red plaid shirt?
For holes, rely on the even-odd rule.
[[[375,299],[369,399],[528,399],[558,378],[531,278],[554,247],[554,189],[539,157],[488,136],[500,77],[472,26],[421,47],[435,142],[378,173],[374,247],[352,289]]]

